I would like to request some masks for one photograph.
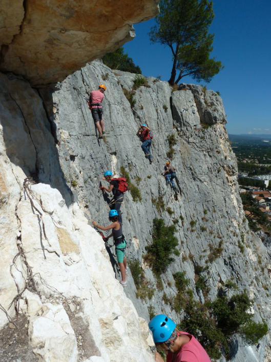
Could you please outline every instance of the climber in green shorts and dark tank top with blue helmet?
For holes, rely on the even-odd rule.
[[[122,287],[127,287],[126,283],[126,274],[128,274],[127,271],[127,260],[125,257],[125,249],[127,245],[127,241],[122,234],[122,226],[120,222],[118,221],[118,212],[116,210],[110,210],[109,212],[109,220],[112,222],[109,226],[100,226],[97,224],[96,221],[92,221],[92,224],[99,228],[100,230],[106,231],[112,229],[112,233],[107,237],[107,239],[111,238],[113,236],[114,239],[114,245],[116,247],[116,255],[118,260],[118,265],[121,273],[121,280],[120,284]]]

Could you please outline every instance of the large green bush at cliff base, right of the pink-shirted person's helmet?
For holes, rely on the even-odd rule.
[[[236,290],[234,283],[225,283],[224,287],[219,289],[216,299],[204,304],[193,299],[191,289],[185,289],[186,282],[176,282],[176,287],[178,293],[174,302],[175,311],[184,312],[178,328],[193,334],[212,359],[220,358],[221,350],[228,357],[231,338],[235,333],[240,333],[248,344],[254,345],[266,335],[266,323],[252,320],[253,315],[249,311],[253,302],[247,293],[228,297],[229,289]],[[179,308],[176,308],[177,301]]]

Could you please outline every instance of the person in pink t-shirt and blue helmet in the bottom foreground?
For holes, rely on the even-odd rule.
[[[172,319],[158,314],[149,322],[157,349],[166,353],[166,362],[211,362],[200,342],[186,332],[176,329]],[[163,358],[155,352],[155,361],[163,362]]]

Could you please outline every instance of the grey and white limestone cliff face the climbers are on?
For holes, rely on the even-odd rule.
[[[195,288],[195,265],[209,265],[204,272],[208,298],[232,279],[255,301],[254,319],[270,325],[268,244],[249,231],[244,217],[221,98],[191,84],[173,91],[155,78],[133,90],[135,77],[99,61],[69,75],[54,91],[1,75],[0,320],[5,335],[6,313],[11,321],[17,310],[18,327],[27,317],[29,339],[20,340],[19,348],[23,356],[33,350],[41,361],[153,360],[144,319],[152,310],[180,320],[165,303],[177,293],[173,274],[178,271],[186,272],[194,298],[204,302],[206,296]],[[98,140],[84,97],[101,82],[107,86],[106,137]],[[124,92],[136,101],[133,108]],[[154,133],[152,164],[136,137],[142,123]],[[175,145],[169,144],[172,135]],[[177,169],[176,194],[160,175],[169,151]],[[154,289],[150,299],[137,298],[131,273],[121,290],[112,269],[119,279],[114,251],[105,249],[91,227],[94,218],[108,224],[99,183],[107,169],[120,176],[121,166],[141,193],[139,202],[128,191],[121,209],[127,258],[140,261]],[[167,225],[175,222],[180,251],[158,286],[142,259],[155,217]],[[218,246],[219,256],[212,258]],[[269,361],[268,338],[256,351],[237,336],[232,360]],[[14,360],[8,342],[0,353]]]

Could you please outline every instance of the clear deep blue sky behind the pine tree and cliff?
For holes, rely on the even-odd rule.
[[[219,90],[230,134],[271,134],[271,0],[213,0],[214,51],[225,68],[206,84]],[[135,24],[136,38],[124,50],[142,74],[170,78],[168,47],[151,45],[148,32],[154,20]],[[184,83],[196,83],[185,77]],[[204,82],[200,82],[204,84]]]

